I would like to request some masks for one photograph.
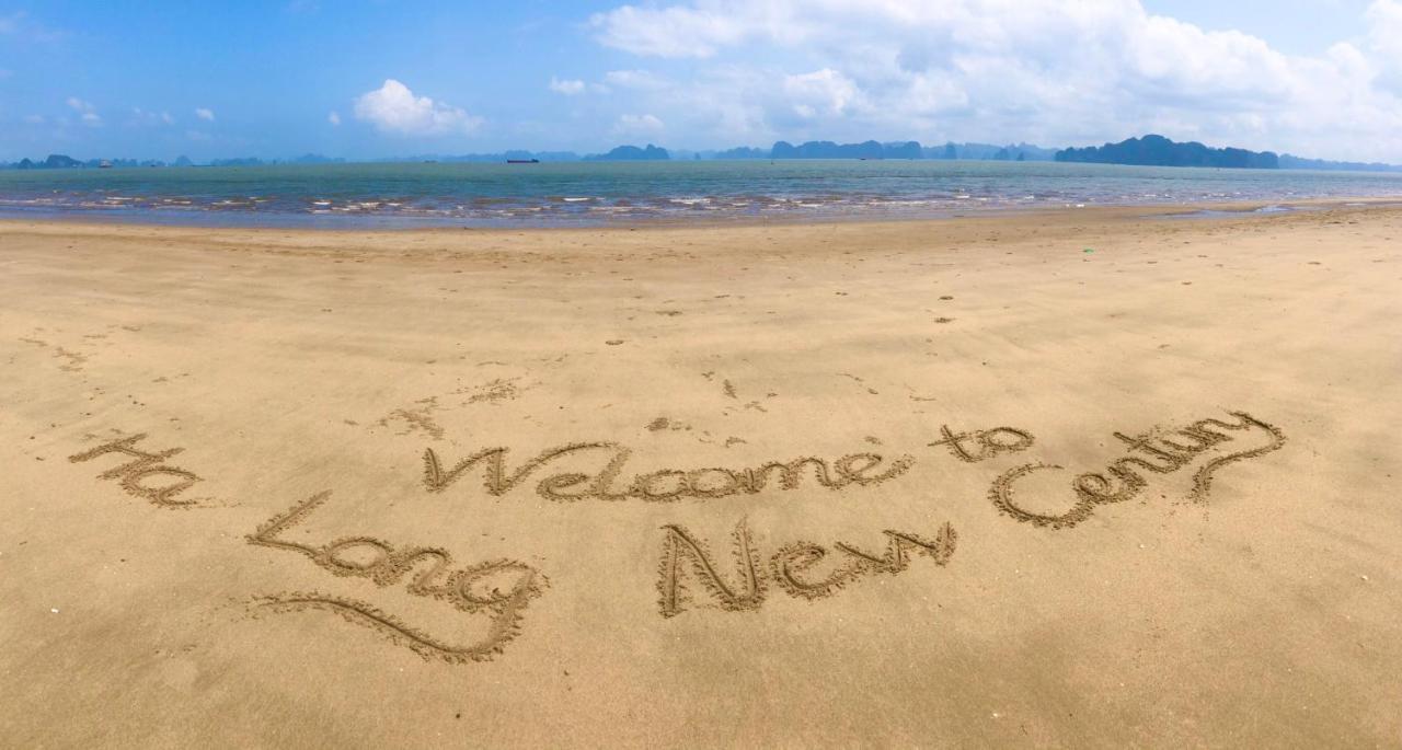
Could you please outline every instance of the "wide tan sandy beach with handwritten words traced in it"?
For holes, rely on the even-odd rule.
[[[0,223],[0,744],[1402,744],[1402,210],[1147,213]]]

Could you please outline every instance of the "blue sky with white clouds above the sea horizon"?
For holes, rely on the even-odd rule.
[[[0,0],[0,158],[876,139],[1402,164],[1402,0]]]

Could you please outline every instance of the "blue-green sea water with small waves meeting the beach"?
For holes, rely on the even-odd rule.
[[[0,171],[0,216],[202,226],[601,226],[1399,198],[1402,174],[1000,161],[318,164]]]

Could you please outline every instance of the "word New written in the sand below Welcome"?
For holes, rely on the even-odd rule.
[[[955,554],[959,534],[945,523],[934,541],[904,531],[883,531],[887,538],[885,554],[873,554],[847,543],[834,543],[833,548],[843,561],[827,571],[816,573],[815,568],[829,555],[829,550],[806,541],[782,547],[768,559],[768,569],[756,559],[754,545],[744,519],[735,527],[735,558],[739,562],[739,583],[726,582],[719,573],[705,544],[680,526],[663,526],[662,562],[658,566],[658,592],[662,617],[681,614],[688,601],[683,585],[683,573],[690,568],[701,587],[716,600],[716,606],[728,611],[757,610],[764,603],[767,579],[773,576],[789,596],[802,599],[823,599],[833,596],[847,583],[864,576],[880,573],[896,575],[910,565],[910,554],[923,554],[944,566]]]

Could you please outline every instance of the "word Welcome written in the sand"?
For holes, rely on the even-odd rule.
[[[876,453],[850,453],[829,465],[823,458],[802,457],[788,463],[770,461],[758,468],[693,468],[688,471],[665,468],[639,474],[631,482],[617,488],[618,475],[632,454],[618,443],[571,443],[541,451],[516,471],[506,470],[509,449],[486,449],[458,461],[453,468],[443,470],[439,457],[429,449],[423,453],[423,484],[429,492],[442,492],[461,478],[463,472],[477,464],[485,467],[484,486],[491,495],[502,495],[545,464],[569,454],[601,454],[607,463],[593,474],[562,472],[545,477],[536,485],[536,492],[550,500],[679,500],[681,498],[725,498],[739,492],[754,493],[765,488],[771,472],[778,472],[781,489],[798,489],[805,467],[813,471],[817,484],[837,489],[848,484],[871,485],[885,482],[910,470],[914,460],[910,456],[897,457],[882,467],[885,458]]]

